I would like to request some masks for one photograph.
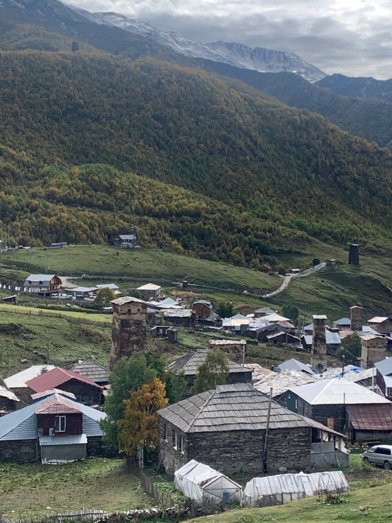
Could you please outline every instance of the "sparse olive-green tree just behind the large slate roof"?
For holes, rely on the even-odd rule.
[[[197,369],[193,394],[200,394],[217,385],[225,385],[229,374],[228,355],[220,349],[210,350],[206,361]]]

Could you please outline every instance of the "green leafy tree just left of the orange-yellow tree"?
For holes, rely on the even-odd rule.
[[[105,432],[107,447],[118,449],[118,420],[124,418],[124,400],[129,394],[150,383],[157,376],[156,370],[147,363],[143,354],[133,354],[130,359],[120,359],[109,377],[110,392],[105,401],[106,418],[100,425]]]

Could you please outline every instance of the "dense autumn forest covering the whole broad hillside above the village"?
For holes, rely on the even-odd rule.
[[[309,235],[392,246],[391,153],[322,116],[152,58],[30,50],[0,64],[11,242],[111,241],[133,197],[145,246],[239,265]]]

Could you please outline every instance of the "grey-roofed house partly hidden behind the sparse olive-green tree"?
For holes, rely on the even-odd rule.
[[[200,365],[206,361],[209,349],[197,349],[196,352],[191,352],[177,358],[168,365],[168,370],[174,374],[184,373],[184,378],[188,383],[184,398],[192,394],[191,389],[195,383],[195,378]],[[252,383],[252,370],[247,367],[235,363],[235,361],[228,362],[229,374],[226,383]]]

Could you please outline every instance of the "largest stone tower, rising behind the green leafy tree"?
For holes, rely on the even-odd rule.
[[[121,358],[146,350],[147,303],[131,296],[113,299],[109,369]]]

